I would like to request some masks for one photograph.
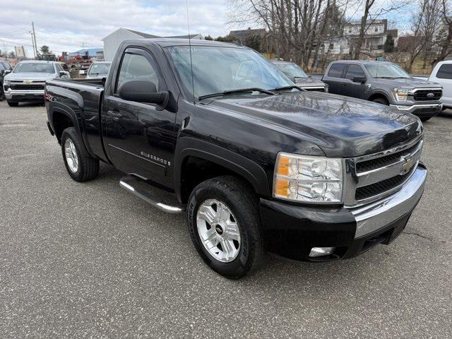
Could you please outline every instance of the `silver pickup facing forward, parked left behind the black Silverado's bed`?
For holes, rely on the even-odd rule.
[[[20,61],[4,77],[4,93],[8,105],[19,102],[44,102],[44,84],[54,78],[69,78],[57,61]]]

